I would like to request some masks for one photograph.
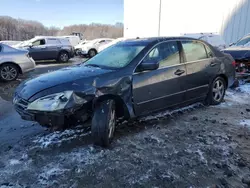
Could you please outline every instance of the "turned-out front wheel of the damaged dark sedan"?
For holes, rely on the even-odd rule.
[[[116,124],[115,101],[103,101],[95,108],[91,133],[94,144],[108,147],[113,140]]]

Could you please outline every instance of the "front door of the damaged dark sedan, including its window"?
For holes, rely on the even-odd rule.
[[[133,74],[133,102],[136,115],[179,104],[184,99],[185,65],[181,64],[180,43],[162,42],[142,60],[159,62],[159,68]]]

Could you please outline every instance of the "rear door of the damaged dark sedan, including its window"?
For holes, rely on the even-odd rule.
[[[185,101],[204,98],[211,79],[216,75],[219,62],[213,57],[209,47],[200,41],[188,40],[182,41],[181,44],[187,71]]]

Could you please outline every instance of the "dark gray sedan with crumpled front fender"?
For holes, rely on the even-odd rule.
[[[220,104],[235,79],[233,62],[196,39],[131,39],[85,63],[25,81],[13,102],[23,119],[46,127],[92,118],[94,143],[108,146],[118,118],[198,101]]]

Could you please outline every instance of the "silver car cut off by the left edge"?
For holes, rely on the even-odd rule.
[[[27,50],[12,48],[0,43],[0,80],[13,81],[19,74],[35,68],[35,61]]]

